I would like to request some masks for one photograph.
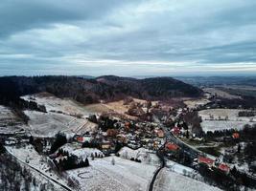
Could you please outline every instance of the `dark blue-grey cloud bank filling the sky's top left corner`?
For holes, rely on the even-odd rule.
[[[118,0],[2,0],[0,36],[30,29],[48,28],[53,23],[97,19],[119,4]]]

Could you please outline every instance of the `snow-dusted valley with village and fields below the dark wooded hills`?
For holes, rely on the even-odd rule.
[[[111,80],[101,77],[101,83],[119,83]],[[221,108],[220,97],[209,91],[142,97],[87,104],[48,92],[13,97],[18,112],[10,102],[0,107],[1,155],[32,176],[39,173],[52,190],[254,188],[253,110]]]

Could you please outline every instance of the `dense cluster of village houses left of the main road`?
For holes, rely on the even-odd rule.
[[[153,122],[134,122],[119,120],[117,128],[109,128],[105,132],[98,129],[76,135],[74,141],[97,147],[108,155],[116,150],[117,144],[126,145],[131,149],[141,147],[157,150],[164,143],[164,132]]]

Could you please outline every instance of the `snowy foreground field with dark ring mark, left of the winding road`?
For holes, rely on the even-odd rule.
[[[114,165],[112,164],[114,159]],[[90,160],[90,166],[68,171],[86,191],[144,191],[151,182],[155,166],[128,159],[108,157]]]

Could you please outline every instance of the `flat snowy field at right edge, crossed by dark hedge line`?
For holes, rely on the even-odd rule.
[[[256,124],[256,117],[238,117],[240,111],[243,110],[209,109],[199,111],[198,115],[202,118],[202,130],[207,132],[223,129],[243,129],[245,124]],[[212,116],[212,119],[210,116]],[[227,119],[225,120],[225,118]]]

